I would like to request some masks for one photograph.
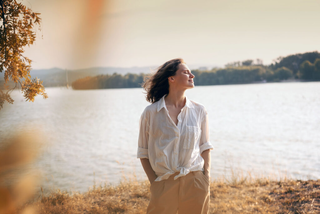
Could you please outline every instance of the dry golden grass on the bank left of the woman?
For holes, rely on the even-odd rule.
[[[39,213],[145,213],[148,182],[104,186],[86,193],[51,193],[35,203]]]

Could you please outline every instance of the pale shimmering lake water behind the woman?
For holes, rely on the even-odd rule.
[[[136,158],[139,119],[149,105],[142,89],[47,88],[49,98],[0,111],[0,142],[23,126],[44,133],[45,191],[86,191],[95,184],[145,180]],[[196,86],[189,99],[209,114],[212,178],[252,176],[320,179],[320,82]]]

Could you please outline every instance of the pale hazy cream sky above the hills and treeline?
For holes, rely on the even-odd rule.
[[[320,51],[319,0],[23,0],[41,13],[33,69],[218,66]]]

